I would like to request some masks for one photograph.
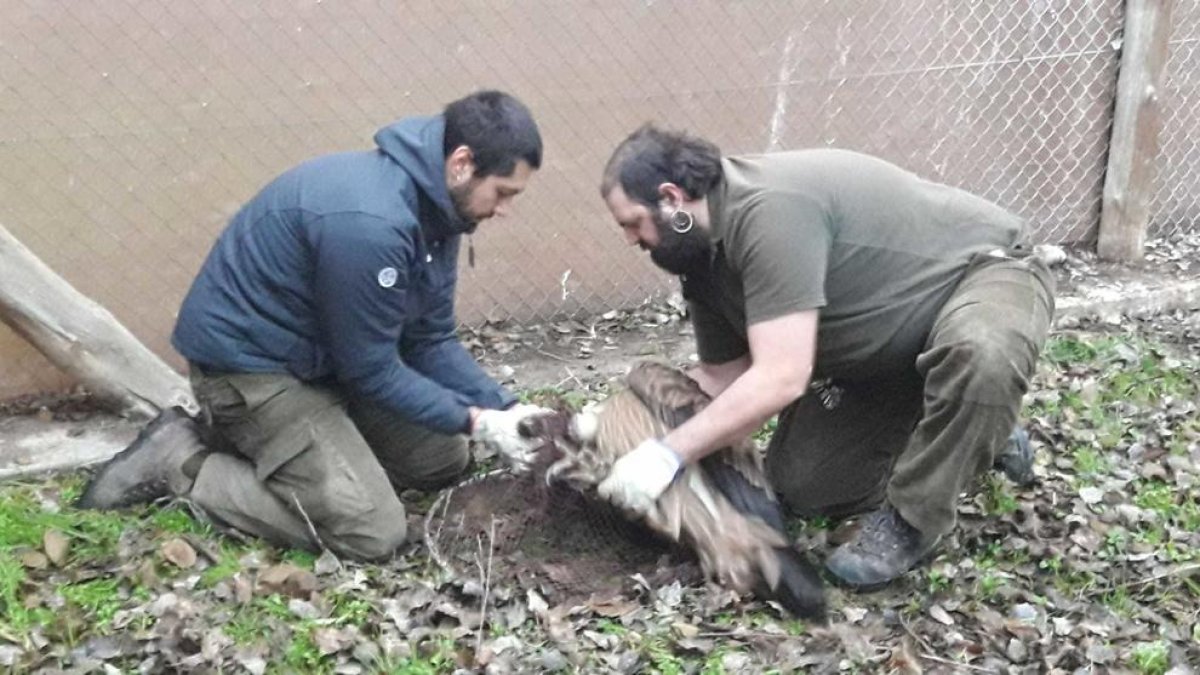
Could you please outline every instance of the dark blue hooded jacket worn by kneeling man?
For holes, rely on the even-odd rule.
[[[376,133],[378,150],[305,162],[251,199],[217,239],[172,344],[221,372],[288,372],[442,432],[467,406],[515,402],[455,334],[458,219],[440,117]]]

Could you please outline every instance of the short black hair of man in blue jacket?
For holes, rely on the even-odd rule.
[[[475,175],[511,175],[518,160],[541,167],[541,135],[529,108],[496,90],[476,91],[449,103],[442,148],[446,157],[460,145],[470,148]]]

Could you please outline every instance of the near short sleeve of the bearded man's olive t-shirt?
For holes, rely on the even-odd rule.
[[[746,325],[826,305],[827,222],[818,204],[778,195],[750,204],[730,223],[726,249],[742,279]]]

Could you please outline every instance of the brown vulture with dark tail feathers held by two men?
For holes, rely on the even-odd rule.
[[[646,438],[661,438],[709,402],[683,371],[638,363],[620,390],[590,410],[539,416],[522,434],[553,453],[546,482],[584,494],[613,462]],[[773,599],[805,619],[824,617],[824,593],[812,565],[788,543],[779,502],[748,440],[688,465],[659,497],[646,525],[690,546],[704,574],[739,592]]]

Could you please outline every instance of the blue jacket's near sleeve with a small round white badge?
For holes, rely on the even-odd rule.
[[[338,382],[444,434],[467,428],[467,405],[397,353],[414,269],[414,227],[364,214],[314,223],[314,303]]]

